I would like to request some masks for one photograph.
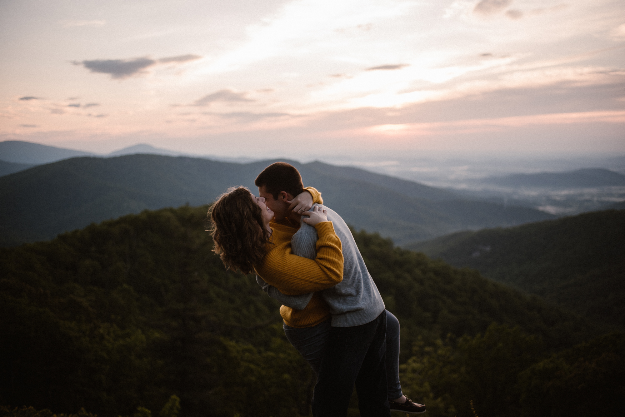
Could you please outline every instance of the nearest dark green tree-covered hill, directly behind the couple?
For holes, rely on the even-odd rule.
[[[279,305],[212,254],[206,209],[145,211],[0,249],[0,405],[116,417],[156,413],[177,395],[183,417],[308,415],[314,380],[282,335]],[[355,237],[401,322],[406,393],[429,401],[431,416],[472,415],[469,400],[480,416],[520,410],[520,371],[605,331],[379,235]],[[454,359],[428,379],[441,358],[462,355],[461,368]],[[477,384],[482,363],[506,372]],[[512,394],[486,400],[500,389]]]

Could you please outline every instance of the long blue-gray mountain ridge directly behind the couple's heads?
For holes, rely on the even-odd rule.
[[[284,160],[284,159],[282,159]],[[164,155],[79,157],[0,177],[1,245],[53,238],[144,209],[202,205],[228,187],[246,185],[276,160],[248,164]],[[554,218],[539,210],[463,200],[445,190],[351,167],[289,161],[305,185],[356,228],[401,244],[463,230]],[[364,179],[357,179],[358,173]],[[392,188],[389,188],[392,187]],[[422,195],[423,197],[419,197]]]

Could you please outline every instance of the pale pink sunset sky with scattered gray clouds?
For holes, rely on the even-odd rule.
[[[0,0],[0,39],[0,140],[625,155],[622,0]]]

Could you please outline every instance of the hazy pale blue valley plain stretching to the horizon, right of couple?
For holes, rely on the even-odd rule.
[[[608,209],[625,202],[625,157],[319,157],[329,164],[352,165],[379,174],[456,190],[470,198],[533,207],[556,215]],[[581,171],[580,171],[581,170]],[[576,172],[577,171],[577,172]],[[575,173],[574,173],[575,172]],[[557,173],[556,178],[532,174]],[[529,174],[526,177],[515,174]],[[510,181],[509,176],[513,175]],[[614,178],[616,177],[616,178]],[[509,184],[511,183],[512,184]],[[507,184],[506,184],[507,183]]]

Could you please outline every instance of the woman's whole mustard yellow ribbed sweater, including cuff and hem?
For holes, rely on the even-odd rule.
[[[315,202],[321,200],[317,190],[311,194]],[[332,222],[317,223],[317,257],[314,260],[298,257],[291,252],[291,238],[299,225],[286,223],[289,222],[271,222],[271,243],[267,243],[267,255],[256,267],[256,273],[286,295],[315,292],[304,310],[285,305],[280,308],[280,315],[287,325],[297,328],[314,326],[330,317],[327,303],[316,292],[342,281],[341,239],[334,232]]]

